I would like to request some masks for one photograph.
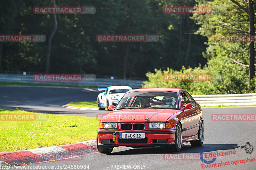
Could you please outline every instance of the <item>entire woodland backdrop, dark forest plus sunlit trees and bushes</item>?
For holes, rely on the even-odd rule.
[[[211,6],[212,13],[163,13],[164,6],[196,5]],[[52,0],[3,0],[0,33],[45,34],[49,38],[53,15],[34,14],[35,6],[52,6]],[[130,79],[146,78],[146,74],[144,87],[180,87],[193,94],[253,92],[248,90],[249,43],[211,41],[215,34],[248,34],[248,13],[242,9],[248,8],[248,1],[62,0],[56,1],[56,6],[94,6],[96,13],[56,15],[58,27],[52,39],[50,73],[93,73]],[[157,34],[159,41],[97,42],[99,34]],[[0,72],[44,72],[47,41],[0,42],[0,47]],[[172,72],[211,73],[213,79],[163,81],[162,74]]]

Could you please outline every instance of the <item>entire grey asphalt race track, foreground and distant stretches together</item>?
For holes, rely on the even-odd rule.
[[[41,111],[53,114],[95,116],[99,110],[68,110],[61,107],[70,101],[96,100],[98,92],[82,88],[42,88],[42,87],[0,87],[0,108]],[[241,159],[256,159],[256,124],[255,121],[218,122],[212,121],[212,114],[225,113],[256,113],[256,107],[227,107],[227,108],[203,108],[204,144],[192,147],[183,145],[179,153],[200,153],[206,147],[212,147],[216,152],[236,151],[236,154],[217,157],[215,162],[237,161]],[[96,135],[96,134],[95,134]],[[254,147],[251,154],[245,152],[241,146],[246,142]],[[202,169],[201,160],[164,160],[164,153],[170,153],[168,148],[144,147],[127,148],[119,147],[110,154],[94,153],[86,155],[79,161],[52,161],[26,166],[64,166],[89,165],[89,169]],[[172,153],[176,154],[176,153]],[[177,155],[176,155],[177,156]],[[168,159],[169,157],[167,157]],[[174,158],[174,156],[173,156]],[[182,158],[182,156],[181,156]],[[204,164],[205,165],[205,164]],[[207,164],[209,165],[209,164]],[[69,166],[69,168],[68,168]],[[121,168],[122,167],[122,168]],[[129,168],[130,167],[130,168]],[[27,167],[29,168],[29,167]],[[39,168],[40,169],[40,168]],[[46,168],[45,168],[46,169]],[[49,168],[48,168],[49,169]],[[64,169],[64,168],[62,168]],[[203,169],[217,169],[208,167]],[[256,169],[256,161],[238,163],[237,165],[224,165],[218,169]]]

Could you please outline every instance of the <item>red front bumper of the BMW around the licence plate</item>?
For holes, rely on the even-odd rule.
[[[119,133],[145,133],[145,139],[120,139]],[[113,140],[115,134],[115,140]],[[175,130],[172,131],[98,131],[98,145],[107,146],[159,146],[172,145]]]

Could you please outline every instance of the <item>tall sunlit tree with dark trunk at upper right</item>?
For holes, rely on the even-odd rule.
[[[216,55],[228,55],[229,60],[243,67],[248,67],[248,92],[255,89],[255,47],[254,42],[246,43],[212,43],[210,36],[213,34],[255,34],[255,18],[254,7],[252,0],[229,0],[221,1],[214,0],[205,3],[204,0],[198,0],[199,5],[212,6],[213,12],[206,15],[194,14],[193,18],[201,27],[196,32],[197,34],[207,36],[209,38],[207,54],[205,56],[210,59]],[[222,12],[214,11],[214,9],[222,8]],[[224,11],[224,12],[223,12]],[[247,47],[246,47],[247,46]],[[248,51],[245,52],[244,48]],[[232,50],[234,51],[232,51]],[[219,51],[225,51],[222,53]],[[212,55],[213,54],[213,55]],[[248,63],[248,64],[246,64]]]

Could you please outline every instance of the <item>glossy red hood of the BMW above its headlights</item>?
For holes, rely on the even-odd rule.
[[[166,122],[179,112],[173,109],[123,109],[110,112],[102,117],[102,122]],[[134,119],[134,120],[132,120]]]

